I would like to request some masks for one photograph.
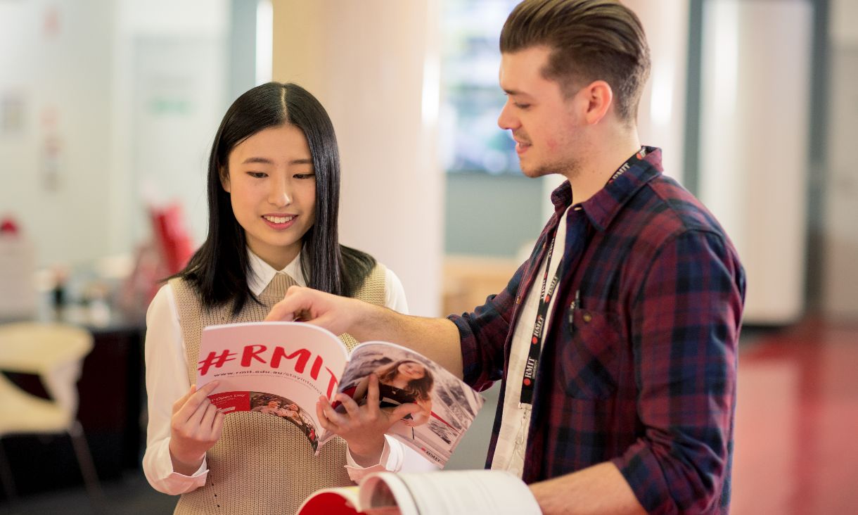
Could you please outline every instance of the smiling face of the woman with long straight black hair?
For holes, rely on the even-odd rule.
[[[236,145],[227,163],[221,184],[247,245],[282,270],[316,219],[316,175],[304,132],[288,124],[260,130]]]

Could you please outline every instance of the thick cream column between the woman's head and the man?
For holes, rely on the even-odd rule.
[[[432,0],[275,0],[275,81],[315,94],[340,144],[341,242],[439,314],[444,173],[436,152],[438,13]]]

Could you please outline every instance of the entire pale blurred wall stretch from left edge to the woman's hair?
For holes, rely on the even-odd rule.
[[[227,0],[0,2],[0,215],[39,264],[133,251],[149,202],[202,240],[228,19]]]

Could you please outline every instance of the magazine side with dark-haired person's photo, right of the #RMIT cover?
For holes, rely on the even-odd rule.
[[[399,345],[366,342],[353,348],[340,391],[366,402],[369,375],[378,375],[383,408],[415,403],[421,411],[387,432],[443,468],[484,399],[434,361]]]

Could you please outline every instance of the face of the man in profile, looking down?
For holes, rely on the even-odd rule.
[[[550,53],[547,46],[533,46],[502,55],[500,87],[507,99],[498,125],[512,131],[525,175],[561,173],[570,179],[585,147],[583,114],[575,109],[582,100],[578,94],[565,98],[558,82],[542,76]]]

